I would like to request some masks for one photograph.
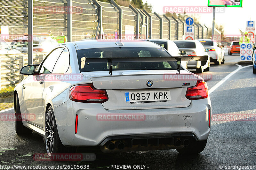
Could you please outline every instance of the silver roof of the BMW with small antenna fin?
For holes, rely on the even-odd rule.
[[[82,40],[82,41],[74,41],[74,42],[67,42],[74,43],[78,47],[78,49],[87,49],[87,48],[111,48],[111,47],[149,47],[149,48],[162,48],[158,44],[150,41],[140,41],[140,40],[133,40],[133,41],[125,41],[122,40],[123,46],[116,45],[116,41],[120,40]]]

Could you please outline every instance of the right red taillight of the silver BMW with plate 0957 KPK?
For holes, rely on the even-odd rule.
[[[189,100],[205,99],[208,97],[208,87],[203,80],[197,80],[196,85],[188,87],[186,98]]]

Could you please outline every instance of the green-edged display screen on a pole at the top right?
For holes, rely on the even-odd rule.
[[[242,7],[243,0],[208,0],[208,6],[212,7]]]

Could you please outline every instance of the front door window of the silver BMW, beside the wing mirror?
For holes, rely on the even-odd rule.
[[[40,74],[51,74],[55,63],[57,62],[61,52],[64,48],[57,48],[44,60],[40,69]]]

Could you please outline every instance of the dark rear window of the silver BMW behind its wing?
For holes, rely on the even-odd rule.
[[[170,57],[162,48],[91,48],[77,50],[80,72],[108,71],[109,63],[86,63],[86,58]],[[176,70],[177,62],[116,62],[112,70]],[[182,68],[180,68],[182,69]]]

